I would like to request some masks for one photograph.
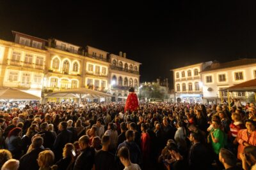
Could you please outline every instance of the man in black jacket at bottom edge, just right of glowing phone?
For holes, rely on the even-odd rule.
[[[80,155],[77,157],[74,170],[91,170],[94,162],[95,150],[90,147],[90,138],[88,135],[79,138]]]

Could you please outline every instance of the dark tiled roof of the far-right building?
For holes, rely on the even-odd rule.
[[[256,64],[256,59],[241,59],[223,63],[214,62],[212,63],[211,66],[206,67],[202,72],[212,71],[215,69],[223,69],[228,67],[244,66],[249,64]]]

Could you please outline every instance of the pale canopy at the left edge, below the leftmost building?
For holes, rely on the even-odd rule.
[[[13,89],[10,87],[0,88],[0,99],[3,100],[22,100],[22,101],[40,101],[40,97],[22,92],[19,89]]]

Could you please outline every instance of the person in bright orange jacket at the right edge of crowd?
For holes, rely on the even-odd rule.
[[[237,134],[237,158],[241,160],[240,153],[243,153],[246,146],[256,146],[256,122],[247,119],[245,121],[246,129],[242,129]]]

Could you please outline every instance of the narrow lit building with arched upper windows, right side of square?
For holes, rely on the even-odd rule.
[[[190,66],[172,69],[175,101],[202,103],[203,89],[200,71],[212,62],[201,62]]]

